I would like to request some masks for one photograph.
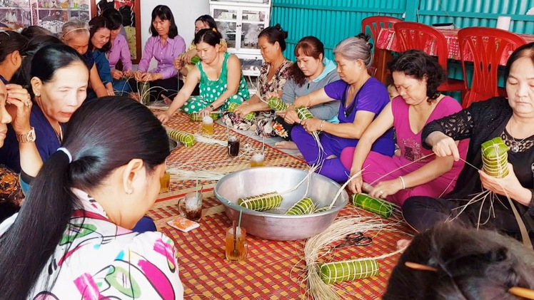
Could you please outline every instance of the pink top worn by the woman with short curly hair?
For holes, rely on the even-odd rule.
[[[395,127],[397,133],[397,144],[401,148],[401,157],[405,160],[415,161],[419,160],[421,157],[432,154],[432,150],[427,150],[421,145],[421,133],[423,130],[420,130],[418,133],[413,133],[410,128],[410,119],[408,118],[408,111],[410,106],[405,103],[404,99],[401,96],[394,98],[391,102],[391,110],[393,111],[393,126]],[[452,115],[453,113],[458,113],[462,110],[460,103],[454,98],[449,96],[443,97],[440,100],[438,105],[435,106],[432,113],[426,120],[426,124],[432,122],[433,120],[438,120],[440,118]],[[465,160],[465,155],[467,155],[467,150],[469,146],[469,139],[460,140],[458,143],[458,152],[460,152],[460,157]],[[415,165],[423,166],[428,162],[435,159],[435,155],[427,157],[423,160],[419,160]],[[458,160],[453,163],[453,167],[449,172],[441,175],[440,177],[443,180],[454,180],[458,178],[460,171],[463,168],[463,161]]]

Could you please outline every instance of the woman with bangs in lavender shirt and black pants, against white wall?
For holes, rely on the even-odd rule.
[[[186,51],[186,41],[178,36],[178,28],[168,6],[158,5],[153,9],[150,32],[152,36],[146,41],[143,56],[135,73],[136,81],[150,82],[151,100],[158,100],[160,94],[173,98],[178,93],[176,77],[178,71],[173,66],[173,60]],[[156,58],[158,66],[148,71],[152,58]],[[132,88],[136,91],[137,87]]]

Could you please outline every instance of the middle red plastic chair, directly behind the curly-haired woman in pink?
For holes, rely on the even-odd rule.
[[[447,39],[443,33],[432,26],[416,22],[396,23],[393,24],[393,29],[395,29],[395,35],[399,46],[401,46],[401,51],[416,49],[425,51],[430,55],[438,56],[438,63],[443,67],[445,73],[448,74]],[[435,53],[431,53],[433,44],[435,44]],[[441,86],[438,87],[438,90],[442,92],[461,90],[462,94],[464,94],[465,84],[463,81],[448,78],[445,83],[442,83]]]

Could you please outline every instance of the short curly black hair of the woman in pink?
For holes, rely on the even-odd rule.
[[[438,86],[447,79],[447,75],[438,60],[424,51],[408,50],[393,58],[389,64],[391,73],[401,72],[418,81],[426,78],[426,95],[428,102],[432,102],[440,95]]]

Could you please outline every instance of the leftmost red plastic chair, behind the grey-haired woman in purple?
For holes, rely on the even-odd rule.
[[[371,37],[373,41],[378,40],[378,33],[380,33],[382,28],[392,28],[393,24],[397,22],[402,22],[403,20],[393,18],[393,16],[368,16],[366,19],[361,20],[361,32],[366,33],[367,27],[371,29]],[[391,61],[391,53],[383,49],[375,48],[375,57],[373,59],[373,68],[371,75],[375,76],[379,81],[382,81],[386,84],[386,63]]]

